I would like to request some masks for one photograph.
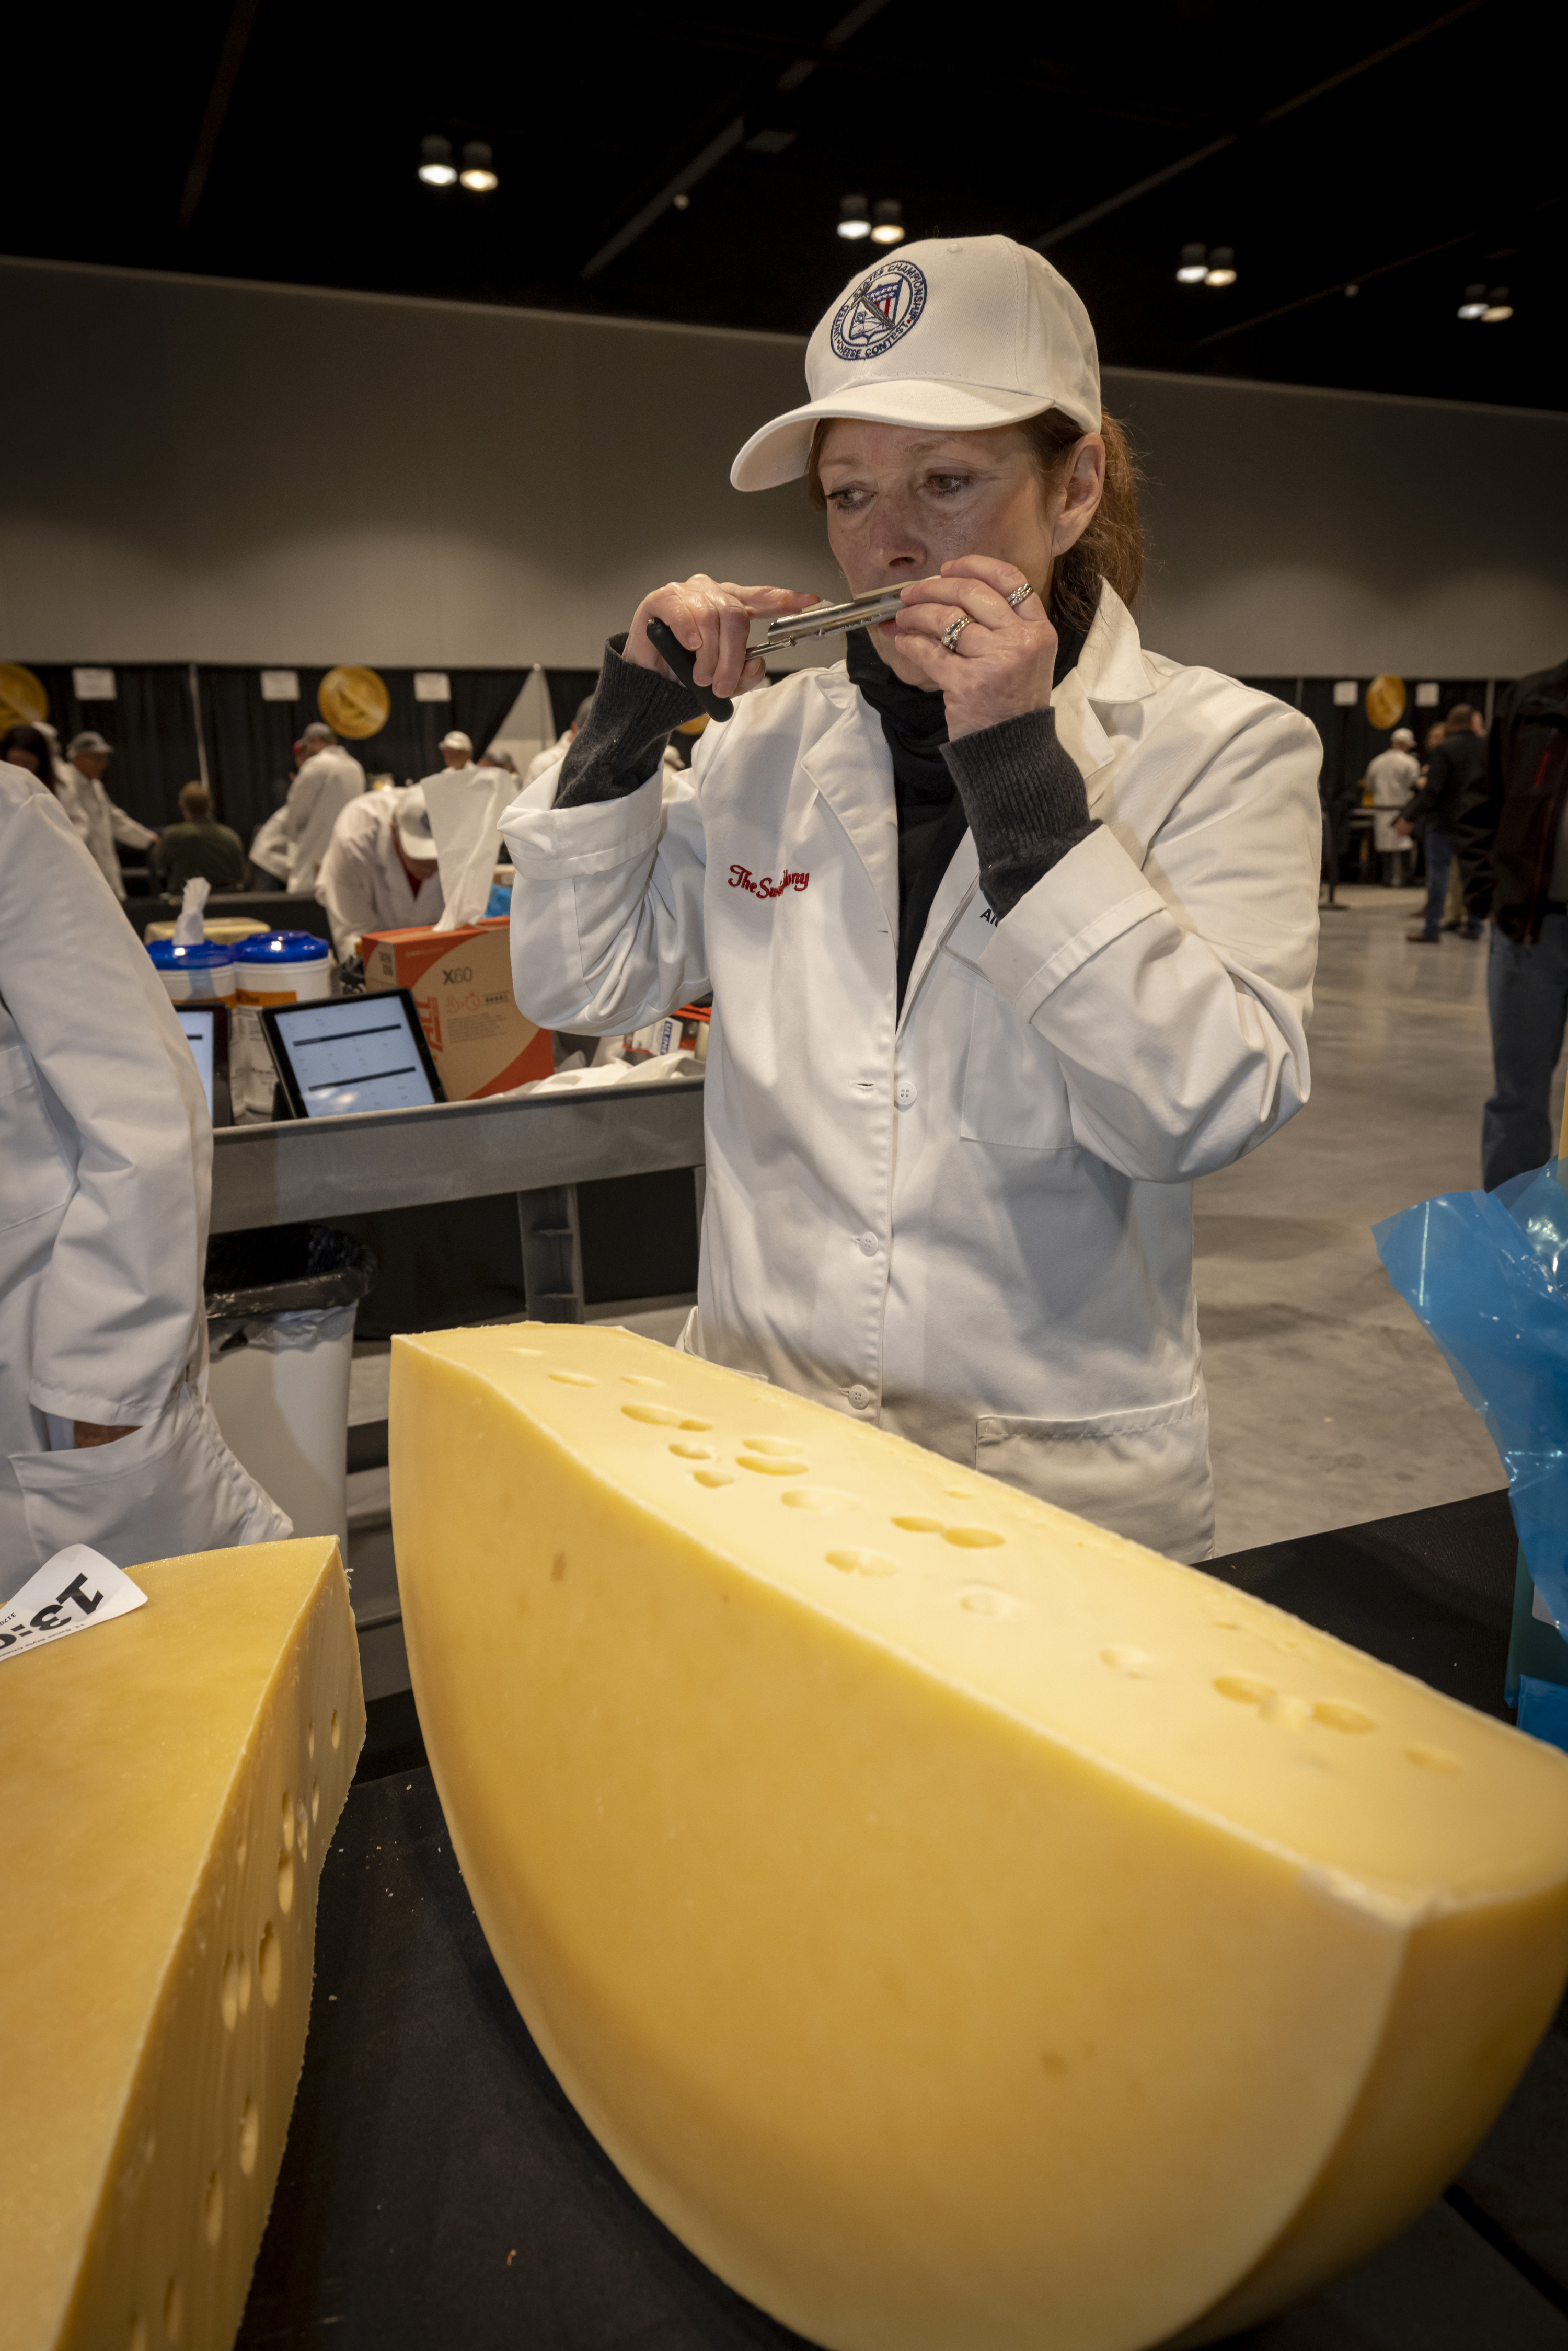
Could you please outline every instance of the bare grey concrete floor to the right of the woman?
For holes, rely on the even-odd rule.
[[[1324,915],[1312,1100],[1194,1192],[1220,1556],[1505,1483],[1371,1237],[1481,1183],[1486,940],[1406,945],[1420,891],[1340,903]]]

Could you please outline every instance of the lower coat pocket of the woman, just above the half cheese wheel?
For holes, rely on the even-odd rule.
[[[1166,1559],[1213,1556],[1208,1396],[1093,1420],[976,1420],[976,1469]]]

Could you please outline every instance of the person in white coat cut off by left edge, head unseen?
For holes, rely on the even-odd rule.
[[[289,1521],[205,1401],[212,1124],[82,842],[0,766],[0,1601],[87,1542],[120,1568]]]

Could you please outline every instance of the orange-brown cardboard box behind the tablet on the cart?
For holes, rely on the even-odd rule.
[[[458,924],[456,931],[367,931],[364,978],[371,994],[407,987],[418,1006],[449,1103],[505,1093],[529,1077],[550,1077],[550,1030],[524,1020],[512,997],[510,924]]]

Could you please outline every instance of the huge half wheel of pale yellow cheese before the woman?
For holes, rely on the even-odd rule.
[[[1568,1756],[630,1333],[395,1340],[489,1944],[684,2243],[830,2351],[1262,2318],[1458,2170],[1568,1972]]]

